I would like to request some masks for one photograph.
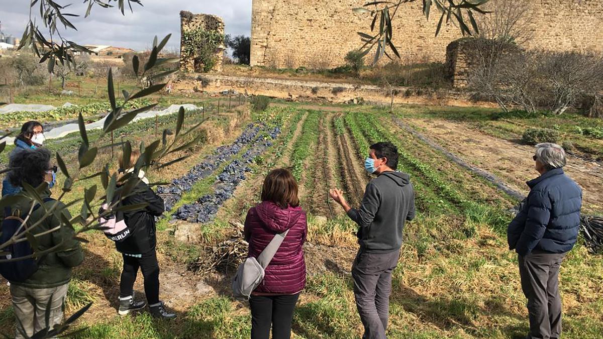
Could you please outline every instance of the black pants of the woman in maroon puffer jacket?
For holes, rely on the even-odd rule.
[[[268,339],[272,325],[273,339],[291,338],[293,310],[299,293],[284,296],[251,296],[251,339]]]

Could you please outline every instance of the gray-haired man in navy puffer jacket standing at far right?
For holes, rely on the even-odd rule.
[[[566,154],[557,144],[538,144],[534,155],[540,177],[507,230],[509,248],[519,255],[522,290],[528,299],[528,338],[561,336],[559,268],[576,244],[582,190],[563,172]]]

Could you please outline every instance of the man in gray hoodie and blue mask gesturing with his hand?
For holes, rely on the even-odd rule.
[[[391,274],[400,258],[404,224],[415,217],[414,189],[408,174],[396,171],[397,165],[396,146],[378,142],[370,147],[364,164],[377,177],[368,183],[360,208],[350,208],[341,190],[330,190],[331,198],[358,224],[360,249],[352,277],[364,339],[385,339]]]

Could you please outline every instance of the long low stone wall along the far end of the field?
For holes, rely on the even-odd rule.
[[[201,79],[209,80],[209,84],[202,86]],[[201,91],[219,93],[235,90],[245,95],[267,95],[289,100],[330,103],[389,104],[391,102],[390,91],[379,86],[213,74],[185,75],[185,77],[174,80],[172,90],[191,93]],[[458,90],[396,87],[394,93],[396,93],[394,103],[397,104],[496,107],[493,103],[471,101],[467,93]]]

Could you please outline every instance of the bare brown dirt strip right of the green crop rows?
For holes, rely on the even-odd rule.
[[[504,180],[516,191],[528,194],[525,182],[537,176],[534,147],[486,135],[467,124],[438,119],[405,119],[450,152]],[[584,191],[584,208],[603,211],[601,163],[568,156],[565,170]]]

